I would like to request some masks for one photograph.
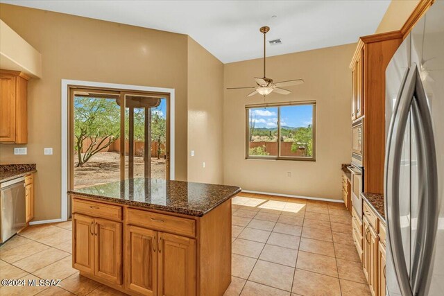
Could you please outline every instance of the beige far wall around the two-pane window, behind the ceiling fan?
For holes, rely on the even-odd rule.
[[[262,60],[225,64],[223,155],[224,183],[242,189],[317,198],[341,198],[341,164],[350,163],[351,73],[348,64],[356,44],[267,58],[267,76],[275,81],[303,78],[287,96],[271,94],[266,102],[316,100],[316,162],[245,159],[245,105],[264,98],[246,98]],[[287,177],[291,172],[291,177]]]

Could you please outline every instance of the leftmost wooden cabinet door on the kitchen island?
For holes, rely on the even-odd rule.
[[[72,220],[73,268],[92,274],[94,272],[94,218],[74,214]]]

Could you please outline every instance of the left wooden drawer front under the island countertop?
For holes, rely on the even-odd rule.
[[[72,211],[73,213],[85,214],[92,217],[122,220],[122,207],[103,204],[101,202],[89,202],[74,198]]]

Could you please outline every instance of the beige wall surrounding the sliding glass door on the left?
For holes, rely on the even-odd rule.
[[[42,53],[42,78],[28,82],[28,144],[0,144],[0,163],[37,164],[35,220],[60,218],[62,79],[176,89],[176,179],[187,179],[187,35],[6,4],[0,19]],[[13,155],[18,146],[28,155]]]

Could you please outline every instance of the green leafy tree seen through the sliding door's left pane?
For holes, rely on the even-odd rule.
[[[74,98],[74,137],[78,166],[119,139],[120,112],[116,101],[109,98]],[[85,141],[89,139],[89,141]],[[89,143],[83,153],[84,143]]]

